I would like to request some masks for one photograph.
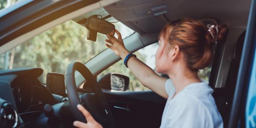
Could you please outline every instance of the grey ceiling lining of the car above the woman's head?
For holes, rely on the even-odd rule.
[[[122,0],[104,9],[136,32],[152,33],[183,17],[212,18],[229,27],[245,28],[250,3],[250,0]]]

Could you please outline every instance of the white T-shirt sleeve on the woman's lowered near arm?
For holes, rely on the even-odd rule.
[[[177,97],[176,97],[177,98]],[[191,96],[179,96],[166,119],[164,128],[213,128],[213,120],[206,106]],[[170,112],[170,111],[169,111]]]

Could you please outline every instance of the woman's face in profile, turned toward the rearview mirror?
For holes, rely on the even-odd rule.
[[[158,73],[167,74],[170,69],[170,62],[168,61],[168,43],[164,41],[163,36],[159,39],[159,47],[156,53],[156,71]]]

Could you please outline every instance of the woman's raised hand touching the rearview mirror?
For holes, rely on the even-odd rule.
[[[112,36],[113,33],[111,33],[111,35],[107,35],[108,39],[106,39],[105,41],[112,44],[112,46],[109,44],[106,44],[106,46],[112,49],[116,55],[124,59],[126,55],[128,55],[130,52],[125,48],[120,32],[115,30],[115,33],[118,35],[118,38]]]

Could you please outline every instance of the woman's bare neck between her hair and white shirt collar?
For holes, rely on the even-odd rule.
[[[197,73],[190,72],[177,72],[169,74],[169,78],[176,89],[176,94],[181,92],[186,86],[192,83],[201,82],[198,78]]]

